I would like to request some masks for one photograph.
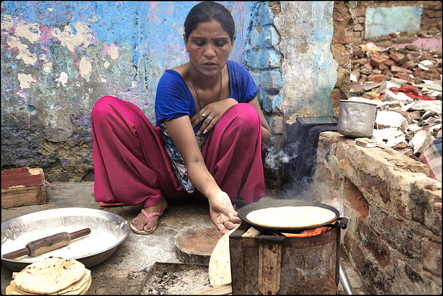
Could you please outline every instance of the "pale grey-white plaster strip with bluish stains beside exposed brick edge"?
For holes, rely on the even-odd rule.
[[[275,16],[280,33],[282,100],[278,107],[290,115],[334,115],[330,94],[336,81],[337,63],[330,44],[333,35],[333,1],[280,2]]]

